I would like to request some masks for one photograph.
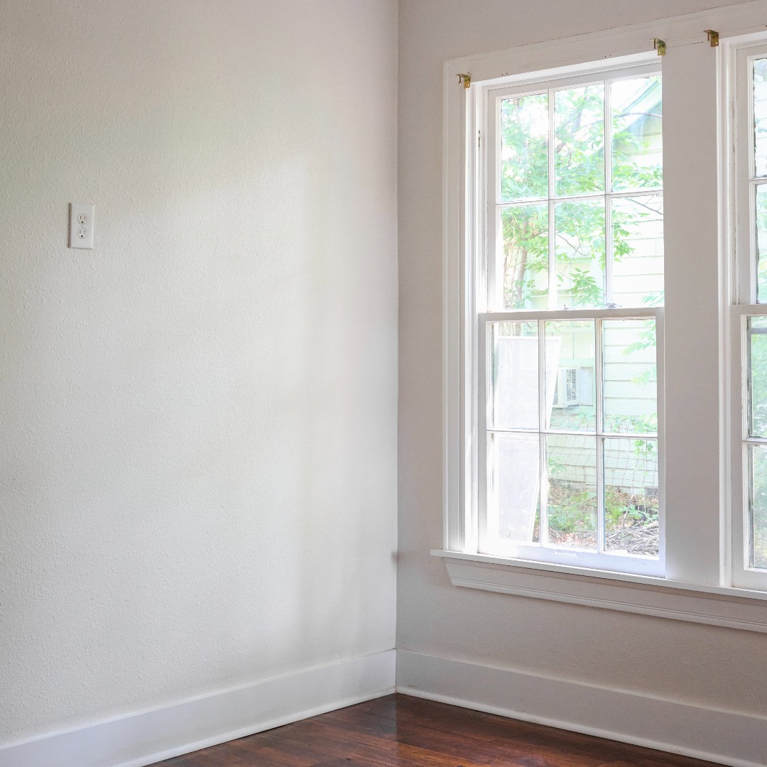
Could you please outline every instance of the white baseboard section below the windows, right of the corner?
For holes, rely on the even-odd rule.
[[[397,692],[732,767],[767,764],[767,718],[397,650]]]

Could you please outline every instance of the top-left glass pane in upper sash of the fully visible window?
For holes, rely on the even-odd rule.
[[[548,94],[501,102],[501,201],[548,197]]]

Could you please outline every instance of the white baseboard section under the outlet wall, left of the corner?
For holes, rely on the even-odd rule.
[[[145,767],[394,691],[388,650],[0,749],[0,767]]]

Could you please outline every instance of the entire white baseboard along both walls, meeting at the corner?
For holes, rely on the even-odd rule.
[[[767,718],[396,653],[397,692],[732,767],[767,764]],[[145,767],[394,691],[395,652],[202,696],[0,748],[0,767]]]

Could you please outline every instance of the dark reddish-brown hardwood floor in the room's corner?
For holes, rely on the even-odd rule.
[[[686,756],[390,695],[162,767],[711,767]]]

